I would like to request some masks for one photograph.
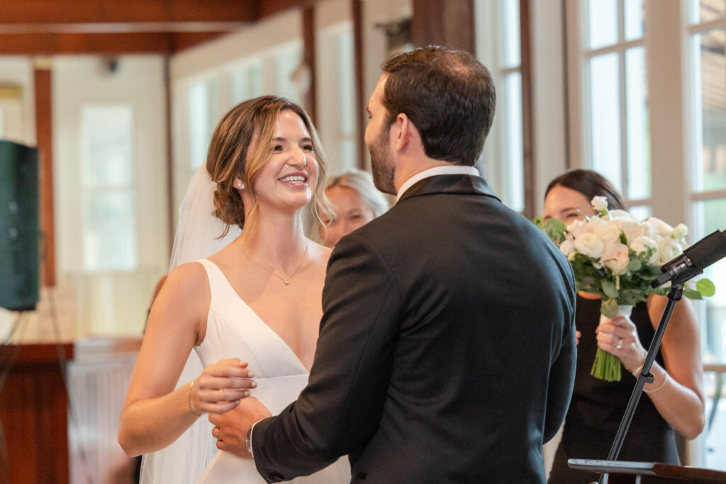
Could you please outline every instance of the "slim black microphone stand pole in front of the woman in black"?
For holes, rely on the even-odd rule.
[[[668,321],[671,319],[673,308],[675,308],[676,303],[683,297],[683,284],[684,283],[681,282],[680,284],[672,286],[666,295],[668,302],[666,303],[666,307],[661,315],[661,321],[658,323],[656,335],[653,336],[653,341],[650,342],[648,354],[645,356],[645,363],[643,363],[643,369],[640,370],[640,374],[637,376],[635,388],[633,388],[633,393],[630,395],[630,400],[628,401],[628,406],[625,409],[623,419],[620,422],[618,432],[615,435],[613,446],[610,448],[608,461],[614,461],[618,458],[620,448],[623,446],[623,441],[625,440],[625,434],[627,433],[628,427],[630,427],[630,422],[632,422],[633,415],[635,414],[635,408],[637,407],[637,403],[640,401],[640,395],[643,395],[643,387],[646,383],[653,383],[653,374],[650,373],[650,368],[653,366],[653,361],[655,361],[658,350],[661,348],[661,341],[663,340],[663,335],[666,332]],[[597,483],[605,484],[606,482],[607,480],[605,480],[605,474],[603,473],[600,475],[600,479]]]

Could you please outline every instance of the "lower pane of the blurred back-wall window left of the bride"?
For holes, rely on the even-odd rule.
[[[83,204],[86,271],[136,269],[136,208],[131,192],[91,193]]]

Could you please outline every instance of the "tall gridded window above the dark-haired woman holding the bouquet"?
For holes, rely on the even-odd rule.
[[[650,204],[650,133],[642,0],[584,2],[586,165],[629,205]]]

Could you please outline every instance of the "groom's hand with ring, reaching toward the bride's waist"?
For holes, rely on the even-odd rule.
[[[252,424],[266,417],[272,417],[272,414],[254,397],[242,398],[239,405],[224,414],[209,414],[209,422],[214,424],[212,436],[217,439],[217,448],[252,459],[245,445],[245,436]]]

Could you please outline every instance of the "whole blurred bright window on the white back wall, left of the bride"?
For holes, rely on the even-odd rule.
[[[83,266],[134,271],[134,112],[125,105],[83,107],[81,133]]]

